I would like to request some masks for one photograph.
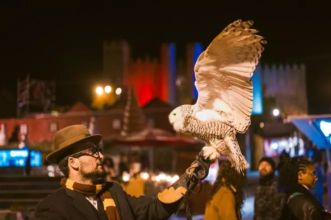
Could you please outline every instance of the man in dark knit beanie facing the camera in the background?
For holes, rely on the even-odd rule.
[[[283,194],[277,191],[275,162],[270,157],[259,161],[259,186],[255,190],[254,220],[279,219]]]

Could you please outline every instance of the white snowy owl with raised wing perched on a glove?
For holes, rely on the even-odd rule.
[[[245,133],[251,120],[253,84],[251,77],[266,44],[252,21],[235,21],[219,34],[195,64],[195,105],[181,105],[169,115],[178,132],[206,142],[205,159],[215,161],[227,154],[238,172],[249,167],[236,133]]]

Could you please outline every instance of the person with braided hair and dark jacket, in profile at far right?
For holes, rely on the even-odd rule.
[[[331,219],[330,213],[309,192],[316,184],[314,165],[303,157],[293,157],[279,171],[278,187],[286,193],[280,219]]]

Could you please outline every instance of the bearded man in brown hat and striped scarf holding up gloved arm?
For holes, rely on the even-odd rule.
[[[65,175],[56,192],[42,199],[36,220],[47,219],[168,219],[198,182],[208,175],[209,165],[199,156],[181,178],[157,194],[134,197],[114,182],[104,182],[103,155],[97,147],[101,135],[91,135],[84,125],[72,125],[54,135],[55,151],[46,159]]]

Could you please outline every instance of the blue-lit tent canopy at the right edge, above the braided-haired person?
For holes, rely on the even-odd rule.
[[[325,130],[331,129],[331,115],[288,116],[288,122],[293,123],[319,149],[331,147],[330,135]],[[323,131],[321,125],[324,125]],[[328,128],[325,128],[328,127]]]

